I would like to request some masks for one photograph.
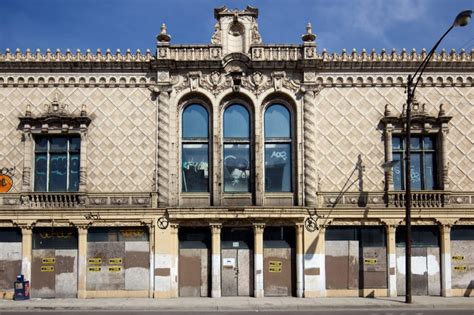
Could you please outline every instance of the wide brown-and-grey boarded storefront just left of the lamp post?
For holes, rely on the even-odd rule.
[[[330,227],[326,230],[328,290],[387,288],[387,252],[383,227]],[[369,292],[367,292],[369,291]]]

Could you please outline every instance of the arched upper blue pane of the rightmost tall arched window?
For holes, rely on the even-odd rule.
[[[283,105],[271,105],[265,111],[265,138],[290,138],[290,112]]]

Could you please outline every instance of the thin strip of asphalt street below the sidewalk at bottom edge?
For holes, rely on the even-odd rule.
[[[67,311],[67,310],[59,310],[55,311],[51,310],[32,310],[32,311],[0,311],[0,315],[31,315],[32,313],[35,314],[67,314],[67,315],[161,315],[161,314],[173,314],[173,315],[189,315],[189,314],[196,314],[196,315],[207,315],[215,313],[216,315],[246,315],[246,314],[258,314],[258,315],[292,315],[292,314],[301,314],[301,315],[313,315],[313,314],[329,314],[329,315],[474,315],[474,309],[471,310],[461,310],[461,309],[357,309],[357,310],[331,310],[331,309],[320,309],[314,311],[243,311],[243,312],[228,312],[228,311],[206,311],[206,312],[193,312],[193,311]]]

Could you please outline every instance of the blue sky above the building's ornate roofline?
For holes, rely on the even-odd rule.
[[[313,24],[318,50],[431,48],[474,0],[0,0],[0,51],[127,48],[155,50],[166,23],[173,44],[206,44],[213,8],[258,7],[264,43],[301,43]],[[441,47],[474,47],[474,22],[454,29]]]

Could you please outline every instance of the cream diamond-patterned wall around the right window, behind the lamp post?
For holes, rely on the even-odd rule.
[[[474,88],[420,87],[417,99],[437,115],[444,104],[449,123],[449,178],[453,191],[474,190]],[[325,88],[316,96],[317,168],[322,191],[383,190],[384,106],[399,115],[406,96],[401,87]],[[358,157],[365,170],[354,171]],[[350,187],[349,187],[350,186]]]

